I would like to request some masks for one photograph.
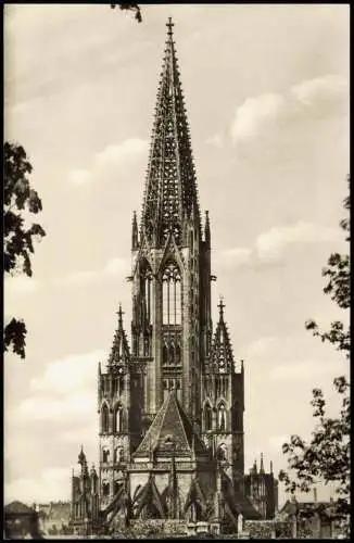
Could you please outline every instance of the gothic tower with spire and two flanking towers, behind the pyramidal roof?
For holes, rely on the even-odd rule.
[[[233,358],[223,302],[213,333],[211,225],[206,212],[202,227],[170,21],[167,27],[140,225],[132,218],[131,350],[119,307],[106,368],[99,367],[103,508],[128,484],[134,455],[152,424],[166,418],[169,407],[161,409],[172,391],[170,409],[186,414],[203,465],[214,473],[223,465],[239,489],[244,475],[243,363]]]

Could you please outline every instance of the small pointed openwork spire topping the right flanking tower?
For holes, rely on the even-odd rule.
[[[225,304],[222,296],[218,308],[219,319],[213,339],[211,358],[214,369],[220,374],[226,374],[232,370],[235,361],[229,332],[224,320]]]

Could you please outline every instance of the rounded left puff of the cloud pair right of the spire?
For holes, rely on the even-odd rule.
[[[248,140],[266,129],[285,111],[286,100],[281,94],[268,93],[248,98],[236,110],[231,124],[233,143]]]

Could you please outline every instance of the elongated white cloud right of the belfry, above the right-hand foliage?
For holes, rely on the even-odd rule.
[[[320,227],[300,220],[290,226],[278,226],[261,233],[256,239],[260,258],[278,257],[286,247],[293,243],[314,243],[339,239],[338,229]]]

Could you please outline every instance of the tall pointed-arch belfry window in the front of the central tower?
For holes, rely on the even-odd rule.
[[[163,324],[180,325],[181,321],[181,281],[178,267],[170,263],[163,274]]]

